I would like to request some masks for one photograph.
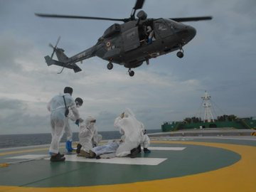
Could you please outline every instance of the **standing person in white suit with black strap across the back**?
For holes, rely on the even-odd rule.
[[[73,93],[72,87],[65,87],[64,94],[56,95],[47,105],[50,111],[50,124],[52,140],[50,143],[50,161],[65,161],[63,154],[59,153],[60,139],[63,137],[65,124],[68,119],[68,108],[72,110],[76,122],[79,121],[79,112],[75,107],[75,101],[71,97]]]

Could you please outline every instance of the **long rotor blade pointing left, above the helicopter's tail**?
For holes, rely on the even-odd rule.
[[[106,18],[106,17],[95,17],[95,16],[68,16],[68,15],[56,15],[56,14],[35,14],[41,17],[50,18],[81,18],[81,19],[95,19],[95,20],[107,20],[107,21],[126,21],[125,18]]]

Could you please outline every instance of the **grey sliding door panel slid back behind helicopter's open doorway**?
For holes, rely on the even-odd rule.
[[[138,27],[130,28],[122,33],[122,39],[124,41],[124,51],[133,50],[139,47],[139,33]]]

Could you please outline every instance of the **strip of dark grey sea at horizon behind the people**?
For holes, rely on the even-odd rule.
[[[146,133],[161,132],[161,129],[146,129]],[[98,132],[102,134],[102,139],[119,139],[118,131]],[[78,142],[78,132],[73,133],[73,141]],[[0,149],[17,146],[32,146],[41,144],[50,144],[51,134],[2,134],[0,135]],[[66,142],[65,134],[60,142]]]

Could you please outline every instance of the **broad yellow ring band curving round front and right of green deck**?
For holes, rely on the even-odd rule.
[[[153,143],[153,142],[152,142]],[[93,191],[93,192],[120,192],[120,191],[179,191],[179,192],[255,192],[256,173],[256,147],[238,144],[218,144],[204,142],[173,142],[157,141],[159,144],[192,144],[212,146],[234,151],[242,156],[241,160],[231,166],[226,166],[214,171],[201,174],[193,174],[176,178],[166,178],[154,181],[144,181],[136,183],[124,183],[102,186],[83,187],[58,187],[58,188],[33,188],[17,186],[0,186],[0,191],[8,192],[44,192],[44,191]]]

